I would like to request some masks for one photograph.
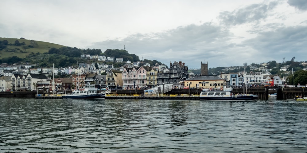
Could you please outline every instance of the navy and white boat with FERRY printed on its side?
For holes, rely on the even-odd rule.
[[[201,90],[200,100],[214,100],[214,101],[255,101],[258,99],[257,95],[252,94],[235,94],[232,93],[232,86],[224,86],[224,88],[204,88]]]

